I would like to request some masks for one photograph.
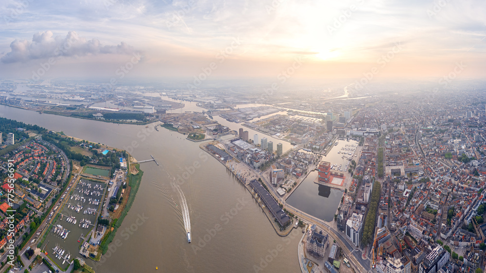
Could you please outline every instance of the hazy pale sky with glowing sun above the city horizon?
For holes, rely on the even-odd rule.
[[[485,15],[484,0],[3,0],[0,77],[484,78]]]

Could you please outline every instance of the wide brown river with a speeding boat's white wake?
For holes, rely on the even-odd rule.
[[[155,272],[156,267],[160,272],[253,272],[254,266],[263,272],[300,272],[300,229],[279,237],[249,192],[225,166],[203,153],[199,143],[169,130],[154,131],[153,125],[118,125],[3,105],[0,116],[126,149],[138,160],[152,154],[160,163],[141,164],[137,198],[110,251],[100,263],[87,259],[97,273]],[[168,178],[185,171],[188,178],[179,181],[190,211],[191,244]]]

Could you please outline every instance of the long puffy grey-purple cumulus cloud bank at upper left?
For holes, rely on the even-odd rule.
[[[80,57],[98,54],[132,54],[135,49],[125,42],[119,45],[103,45],[98,39],[87,40],[75,31],[65,37],[55,36],[51,31],[34,34],[32,41],[15,39],[11,51],[0,58],[2,63],[26,62],[51,57]]]

